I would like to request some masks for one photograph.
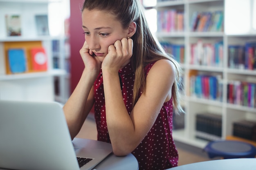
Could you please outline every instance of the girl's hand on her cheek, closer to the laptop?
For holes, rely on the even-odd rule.
[[[83,43],[83,47],[80,49],[80,55],[83,59],[85,69],[91,71],[97,71],[99,73],[101,68],[101,62],[94,56],[93,52],[89,49],[87,42]]]

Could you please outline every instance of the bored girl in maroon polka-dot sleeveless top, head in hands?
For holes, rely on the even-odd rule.
[[[115,155],[132,153],[140,170],[177,166],[179,64],[153,38],[138,0],[85,0],[81,11],[85,68],[63,107],[72,139],[94,105],[98,140]]]

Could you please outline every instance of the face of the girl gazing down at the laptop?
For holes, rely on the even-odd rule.
[[[85,41],[101,61],[108,54],[108,46],[117,40],[127,38],[128,29],[123,29],[121,22],[106,11],[84,9],[82,22]]]

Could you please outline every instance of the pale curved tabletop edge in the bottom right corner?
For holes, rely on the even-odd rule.
[[[220,159],[177,166],[169,170],[254,170],[256,158]]]

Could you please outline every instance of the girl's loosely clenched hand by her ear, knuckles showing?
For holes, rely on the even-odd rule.
[[[133,41],[132,39],[123,38],[117,40],[114,44],[108,47],[108,54],[102,62],[102,69],[118,72],[130,62],[132,56]]]

